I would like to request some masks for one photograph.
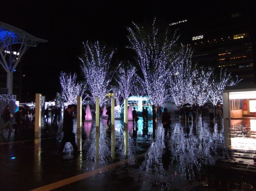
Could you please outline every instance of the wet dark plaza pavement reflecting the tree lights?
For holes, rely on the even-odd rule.
[[[167,140],[160,121],[140,119],[124,128],[116,120],[111,128],[101,120],[100,131],[85,122],[76,136],[80,155],[72,155],[69,143],[66,155],[56,153],[61,120],[59,127],[43,123],[40,139],[29,123],[18,135],[6,130],[0,136],[0,190],[49,184],[57,190],[256,190],[256,120],[172,121]]]

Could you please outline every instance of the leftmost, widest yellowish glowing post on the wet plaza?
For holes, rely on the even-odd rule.
[[[41,97],[40,93],[35,94],[35,138],[41,137]]]

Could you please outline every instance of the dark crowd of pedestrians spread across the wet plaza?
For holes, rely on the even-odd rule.
[[[73,113],[74,107],[72,105],[69,105],[67,109],[65,109],[63,113],[63,139],[61,141],[61,146],[59,148],[59,152],[63,152],[63,148],[65,146],[66,142],[70,142],[74,148],[74,153],[78,154],[80,151],[78,150],[78,147],[76,146],[75,142],[75,134],[73,133],[73,118],[74,118],[74,113]],[[220,106],[215,107],[215,106],[204,106],[204,107],[198,107],[198,106],[191,106],[190,104],[181,106],[178,108],[178,111],[176,111],[175,116],[180,116],[181,120],[186,120],[187,123],[192,122],[195,123],[197,115],[201,115],[202,117],[204,116],[209,116],[210,120],[213,121],[215,116],[217,116],[217,120],[221,119],[222,116],[222,108]],[[111,124],[111,107],[107,108],[107,113],[108,115],[108,121],[107,123]],[[143,124],[147,125],[148,124],[148,107],[142,107],[142,118],[143,118]],[[161,123],[163,125],[163,128],[165,130],[164,133],[164,138],[167,139],[167,133],[171,129],[171,111],[168,111],[166,107],[161,108],[161,107],[155,107],[154,105],[152,106],[152,122],[153,124],[156,123],[156,117],[157,115],[160,116]],[[60,121],[60,115],[61,115],[61,108],[59,107],[50,107],[50,109],[47,107],[44,111],[44,119],[46,123],[48,123],[48,118],[51,118],[51,122],[53,125],[57,126],[57,121]],[[85,110],[82,108],[82,122],[85,120]],[[0,128],[0,134],[3,132],[4,128],[8,128],[9,132],[12,132],[13,130],[11,129],[11,118],[15,117],[15,124],[13,124],[13,129],[15,129],[15,133],[19,131],[19,129],[22,127],[22,124],[25,120],[34,120],[35,116],[35,109],[30,108],[30,107],[19,107],[19,111],[15,112],[13,115],[10,112],[10,107],[6,106],[4,113],[3,113],[3,119],[4,119],[4,125]],[[135,109],[133,108],[132,111],[132,118],[133,118],[133,124],[136,124],[137,127],[137,121],[139,120],[138,118],[138,113]],[[143,125],[144,128],[144,125]]]

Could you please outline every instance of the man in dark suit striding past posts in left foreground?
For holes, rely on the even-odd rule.
[[[73,153],[78,154],[81,151],[78,151],[78,147],[76,145],[76,138],[75,134],[73,133],[73,118],[74,114],[72,115],[72,112],[74,110],[74,107],[72,105],[68,106],[68,109],[64,111],[63,113],[63,138],[61,140],[61,145],[59,147],[59,152],[62,153],[63,149],[65,147],[66,142],[70,142],[73,146]]]

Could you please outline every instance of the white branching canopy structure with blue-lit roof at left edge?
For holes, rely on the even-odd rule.
[[[32,46],[36,47],[39,42],[47,42],[22,31],[21,29],[0,22],[0,64],[7,72],[8,94],[13,93],[13,72],[21,57]],[[15,45],[13,49],[13,45]]]

